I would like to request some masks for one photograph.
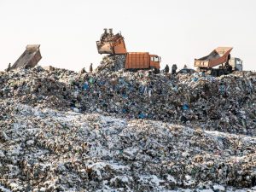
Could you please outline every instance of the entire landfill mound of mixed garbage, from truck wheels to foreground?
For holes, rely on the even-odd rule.
[[[256,191],[256,73],[123,61],[0,73],[0,191]]]

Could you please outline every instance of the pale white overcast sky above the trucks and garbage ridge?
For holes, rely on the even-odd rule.
[[[128,51],[160,55],[162,67],[193,67],[195,58],[232,46],[244,69],[256,70],[255,0],[0,0],[0,21],[0,70],[26,44],[41,44],[42,66],[96,67],[105,27],[122,32]]]

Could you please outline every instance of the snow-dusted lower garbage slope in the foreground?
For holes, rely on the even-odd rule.
[[[0,101],[0,117],[1,191],[256,189],[256,137],[8,99]]]

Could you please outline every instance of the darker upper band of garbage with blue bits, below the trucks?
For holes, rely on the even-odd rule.
[[[106,63],[112,61],[107,58]],[[108,67],[96,73],[53,67],[1,73],[0,99],[40,108],[154,119],[208,131],[256,135],[256,73],[214,78],[203,73],[109,73]]]

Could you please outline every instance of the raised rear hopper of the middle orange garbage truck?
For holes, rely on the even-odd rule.
[[[126,54],[124,37],[117,33],[113,35],[112,29],[104,29],[100,41],[96,41],[99,54]]]

